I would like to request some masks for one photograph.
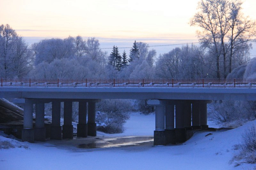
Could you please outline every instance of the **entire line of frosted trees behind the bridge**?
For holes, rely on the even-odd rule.
[[[149,44],[134,41],[129,55],[100,49],[99,40],[51,38],[29,46],[10,25],[0,26],[3,78],[227,78],[249,60],[255,21],[237,0],[201,0],[190,25],[200,45],[184,45],[156,56]]]

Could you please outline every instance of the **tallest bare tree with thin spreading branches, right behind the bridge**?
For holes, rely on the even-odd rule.
[[[199,41],[215,58],[217,78],[231,73],[234,54],[248,51],[250,38],[256,35],[255,22],[242,15],[241,5],[240,0],[200,0],[190,22],[201,28]]]

